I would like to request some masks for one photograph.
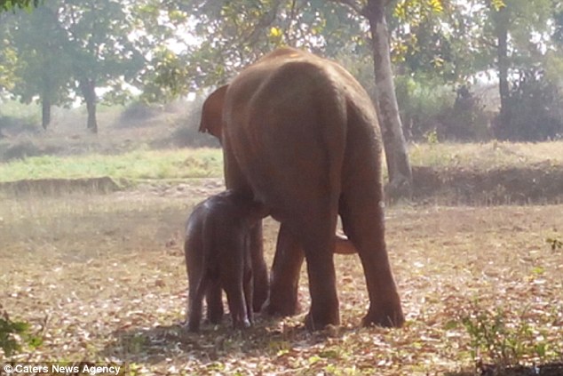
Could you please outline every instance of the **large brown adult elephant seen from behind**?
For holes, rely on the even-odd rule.
[[[353,76],[333,61],[281,48],[210,95],[200,131],[221,140],[227,188],[251,192],[281,222],[267,313],[297,312],[305,255],[311,293],[305,324],[313,330],[339,324],[333,262],[339,214],[368,286],[362,323],[403,324],[385,249],[377,116]],[[258,270],[264,268],[260,236],[257,228]],[[264,273],[258,275],[266,284]]]

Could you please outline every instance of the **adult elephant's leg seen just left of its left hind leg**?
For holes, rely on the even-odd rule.
[[[297,315],[300,310],[297,301],[297,287],[304,257],[305,254],[297,237],[291,234],[287,225],[282,223],[275,247],[270,295],[263,308],[266,314]]]

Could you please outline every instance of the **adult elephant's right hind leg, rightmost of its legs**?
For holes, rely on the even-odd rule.
[[[347,185],[340,200],[345,234],[358,250],[369,292],[363,325],[400,327],[404,316],[385,247],[383,195],[377,182]]]

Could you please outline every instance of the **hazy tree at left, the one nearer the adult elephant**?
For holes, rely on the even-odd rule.
[[[145,58],[131,41],[134,31],[128,3],[116,0],[65,0],[60,3],[60,26],[67,32],[76,89],[88,111],[87,128],[98,132],[96,88],[123,90],[134,81]]]

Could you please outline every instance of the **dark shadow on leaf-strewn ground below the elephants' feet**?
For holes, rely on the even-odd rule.
[[[223,324],[205,323],[196,333],[186,332],[179,322],[153,328],[130,328],[113,332],[115,341],[100,355],[130,364],[157,364],[175,357],[207,364],[236,354],[274,356],[284,348],[312,346],[330,335],[330,332],[308,332],[298,321],[284,323],[280,318],[258,316],[253,327],[237,331],[232,329],[227,315]]]

